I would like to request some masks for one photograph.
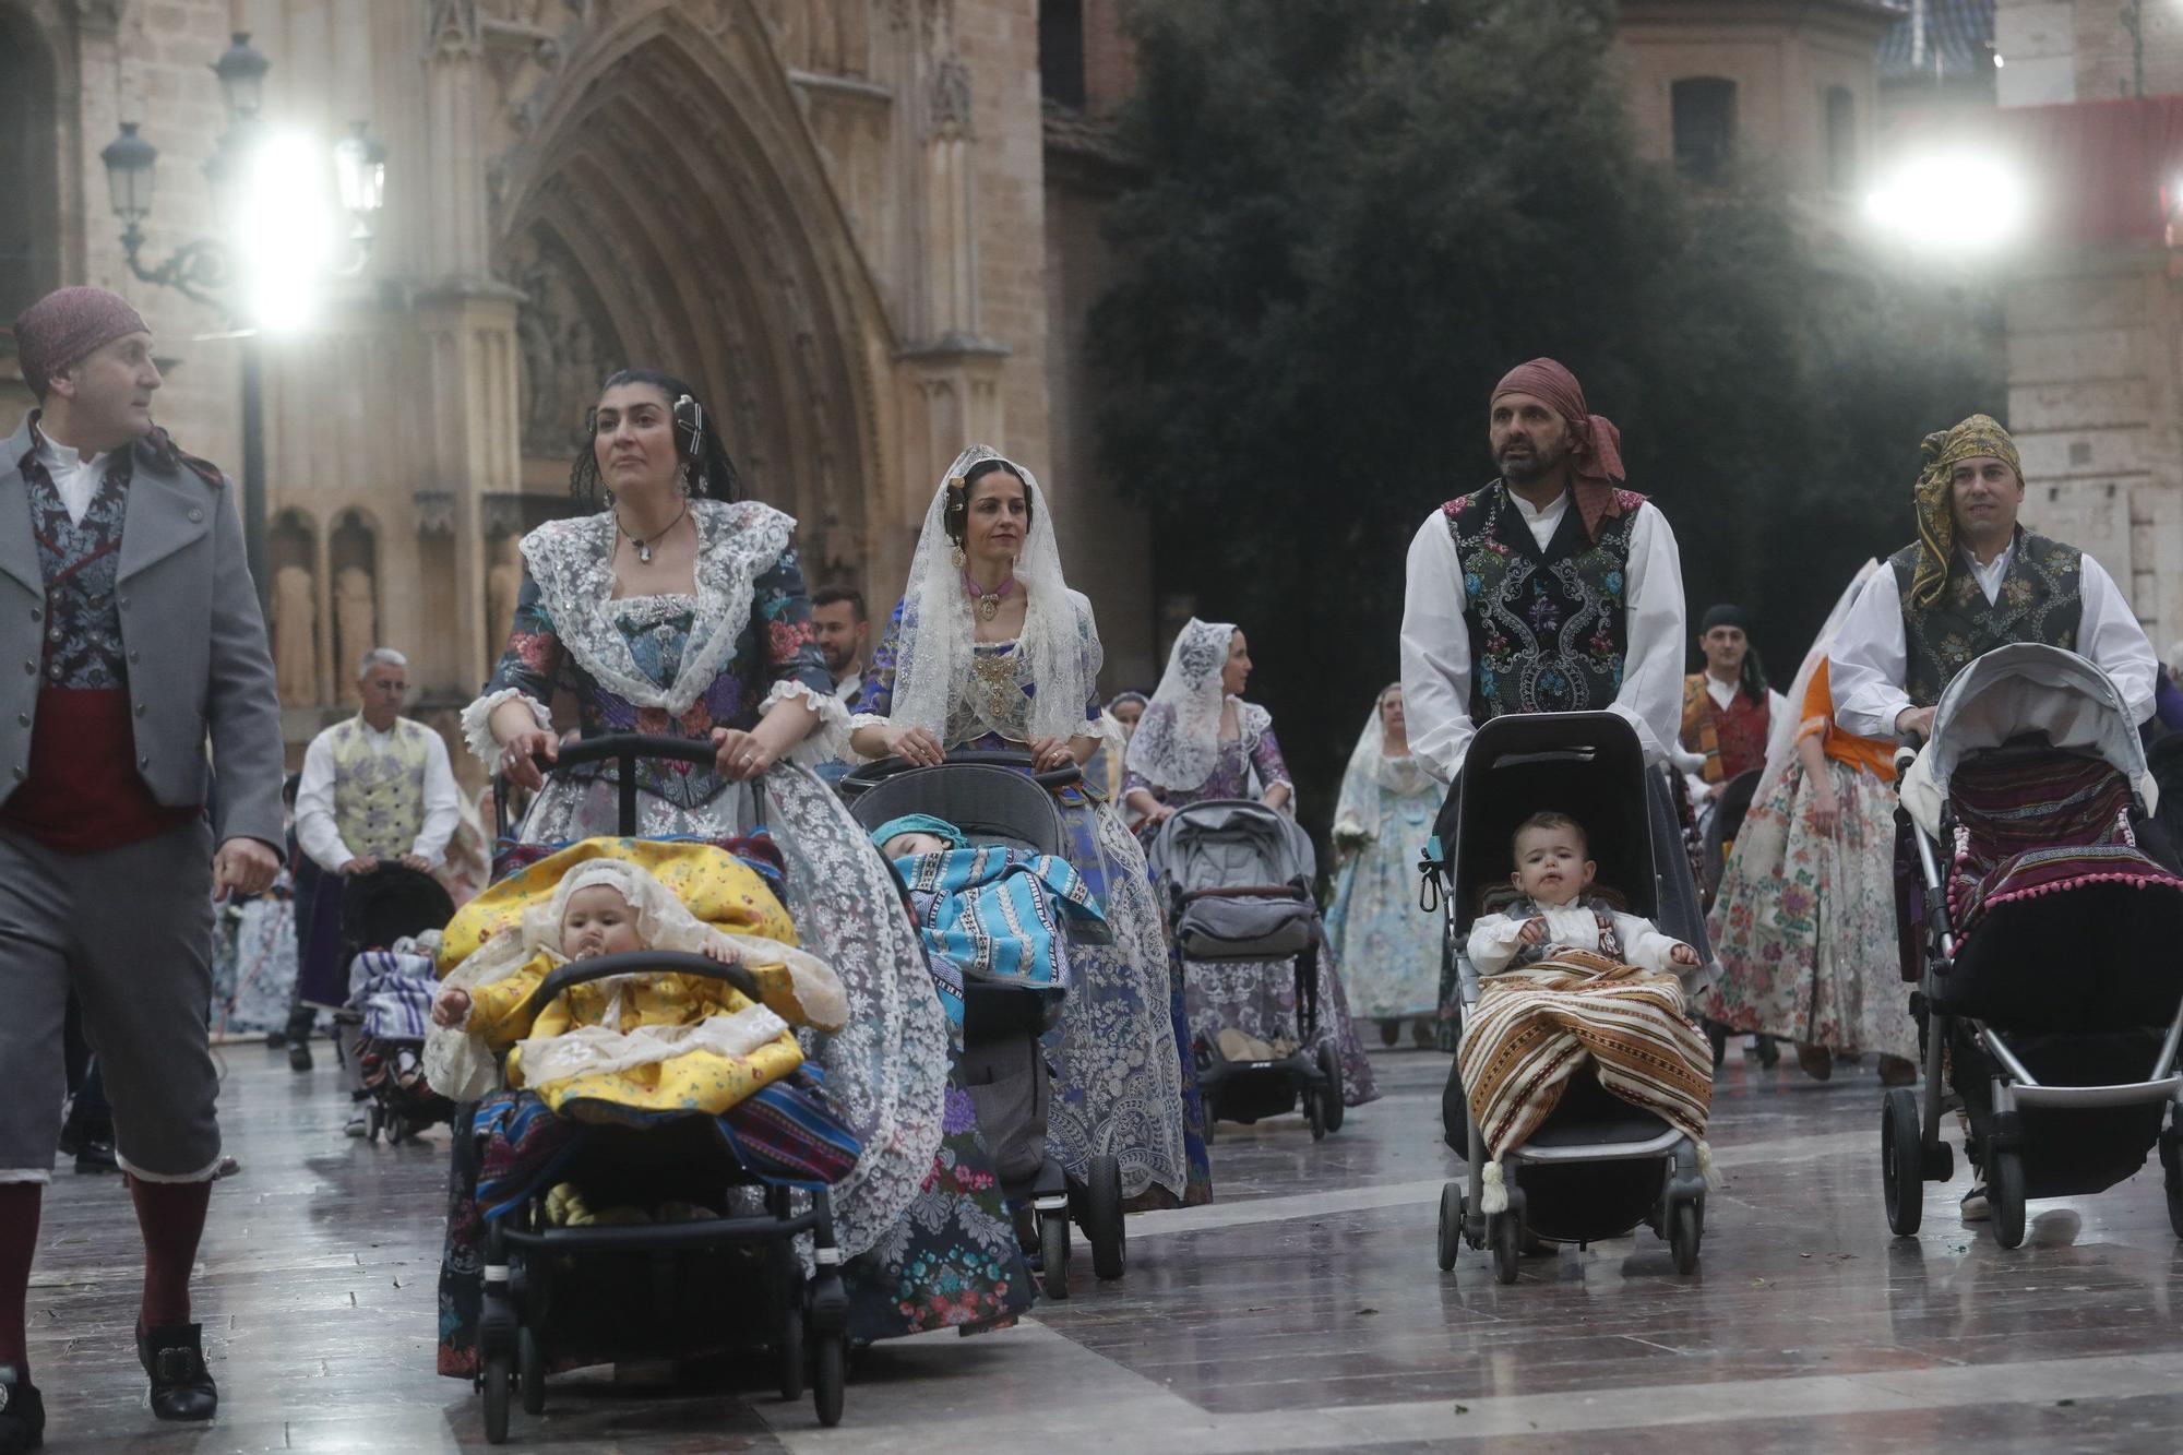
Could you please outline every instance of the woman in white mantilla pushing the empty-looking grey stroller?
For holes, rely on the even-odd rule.
[[[1297,786],[1288,780],[1281,743],[1273,736],[1273,714],[1244,701],[1251,679],[1251,644],[1242,629],[1225,620],[1183,625],[1168,651],[1153,706],[1144,710],[1129,741],[1122,786],[1129,808],[1144,819],[1142,832],[1166,824],[1177,808],[1216,797],[1255,797],[1290,817]],[[1297,979],[1286,963],[1183,963],[1190,1005],[1190,1040],[1207,1060],[1255,1060],[1260,1044],[1279,1051],[1295,1042]],[[1334,970],[1334,955],[1319,957],[1319,1031],[1312,1051],[1332,1042],[1343,1060],[1343,1103],[1362,1105],[1380,1095],[1349,1025],[1349,998]],[[1227,1051],[1222,1051],[1227,1036]]]

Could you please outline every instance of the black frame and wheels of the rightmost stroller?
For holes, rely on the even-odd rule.
[[[1997,651],[2011,653],[2011,664],[2035,660],[2041,653],[2072,655],[2061,653],[2061,649],[2032,644],[2002,647]],[[1989,653],[1980,662],[1989,662],[1993,655],[1997,653]],[[1978,671],[1980,662],[1965,669],[1965,675]],[[1963,682],[1960,675],[1958,682]],[[2111,686],[2109,693],[2113,693]],[[1949,697],[1954,697],[1954,686],[1943,695],[1943,723]],[[2113,703],[2120,710],[2120,695],[2115,695]],[[1987,752],[2006,754],[2017,749],[2004,745]],[[2045,747],[2041,741],[2037,752],[2052,754],[2056,749]],[[1914,745],[1906,745],[1895,754],[1897,791],[1917,758],[1919,749]],[[2146,819],[2137,784],[2131,784],[2131,817],[2137,824]],[[1965,1012],[1960,1005],[1954,1012],[1949,1009],[1949,977],[1958,970],[1965,939],[1949,918],[1945,865],[1936,854],[1934,841],[1901,802],[1895,806],[1895,824],[1897,843],[1908,839],[1914,845],[1917,889],[1923,896],[1921,922],[1910,918],[1910,904],[1901,894],[1897,896],[1897,913],[1906,918],[1906,924],[1901,924],[1904,950],[1906,955],[1917,955],[1919,979],[1912,1009],[1917,1009],[1923,1025],[1925,1077],[1923,1101],[1919,1088],[1895,1088],[1886,1092],[1880,1112],[1880,1173],[1888,1228],[1897,1237],[1914,1234],[1923,1219],[1923,1184],[1954,1178],[1954,1151],[1941,1140],[1941,1119],[1949,1108],[1960,1108],[1963,1099],[1949,1090],[1945,1070],[1952,1055],[1958,1060],[1954,1066],[1958,1073],[1965,1070],[1960,1064],[1963,1057],[1978,1055],[1989,1070],[1989,1125],[1980,1132],[1973,1121],[1971,1134],[1965,1138],[1965,1156],[1973,1164],[1980,1164],[1984,1173],[1995,1243],[2002,1247],[2024,1243],[2026,1197],[2107,1191],[2120,1180],[2113,1173],[2120,1171],[2126,1178],[2142,1164],[2144,1145],[2139,1143],[2137,1160],[2131,1160],[2128,1167],[2109,1164],[2091,1171],[2043,1167],[2054,1149],[2041,1147],[2043,1138],[2026,1134],[2026,1112],[2035,1119],[2052,1121],[2054,1112],[2067,1116],[2146,1108],[2157,1116],[2157,1108],[2161,1105],[2170,1110],[2168,1123],[2159,1127],[2157,1136],[2168,1195],[2168,1221],[2174,1234],[2183,1237],[2183,1066],[2176,1064],[2179,1046],[2183,1046],[2183,1003],[2176,1005],[2168,1020],[2168,1031],[2142,1081],[2087,1086],[2052,1084],[2052,1077],[2043,1079],[2035,1075],[2028,1060],[2037,1057],[2026,1053],[2028,1042],[2017,1040],[2015,1046],[2011,1044],[2011,1038],[2019,1038],[2021,1029],[2011,1027],[2004,1031],[1984,1016]],[[1945,804],[1941,813],[1941,841],[1952,843],[1954,830],[1954,808]],[[1914,935],[1912,928],[1917,931]],[[2144,1040],[2150,1042],[2150,1033]]]

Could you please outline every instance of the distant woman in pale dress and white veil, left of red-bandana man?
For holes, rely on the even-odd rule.
[[[1334,856],[1340,874],[1327,942],[1349,981],[1349,1009],[1380,1022],[1393,1046],[1401,1022],[1419,1046],[1432,1046],[1441,1016],[1441,920],[1417,907],[1417,854],[1432,837],[1443,789],[1410,756],[1401,684],[1373,703],[1334,811]]]

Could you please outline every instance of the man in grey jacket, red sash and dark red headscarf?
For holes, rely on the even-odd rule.
[[[220,1164],[212,902],[266,889],[284,839],[273,660],[234,489],[153,424],[151,332],[114,293],[61,288],[15,341],[39,409],[0,448],[0,1455],[46,1422],[24,1291],[70,994],[144,1234],[151,1409],[210,1420],[218,1405],[190,1322]]]

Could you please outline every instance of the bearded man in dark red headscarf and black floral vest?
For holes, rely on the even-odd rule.
[[[1410,752],[1428,773],[1456,784],[1487,719],[1600,710],[1629,719],[1650,765],[1648,819],[1663,885],[1655,918],[1709,966],[1663,767],[1683,697],[1674,531],[1659,507],[1622,485],[1622,435],[1591,413],[1576,376],[1552,358],[1502,378],[1487,406],[1487,439],[1500,478],[1432,511],[1410,542],[1401,614]],[[1456,994],[1454,968],[1443,966],[1443,1051],[1454,1051]],[[1454,1070],[1441,1101],[1450,1145],[1460,1149],[1463,1084]]]

